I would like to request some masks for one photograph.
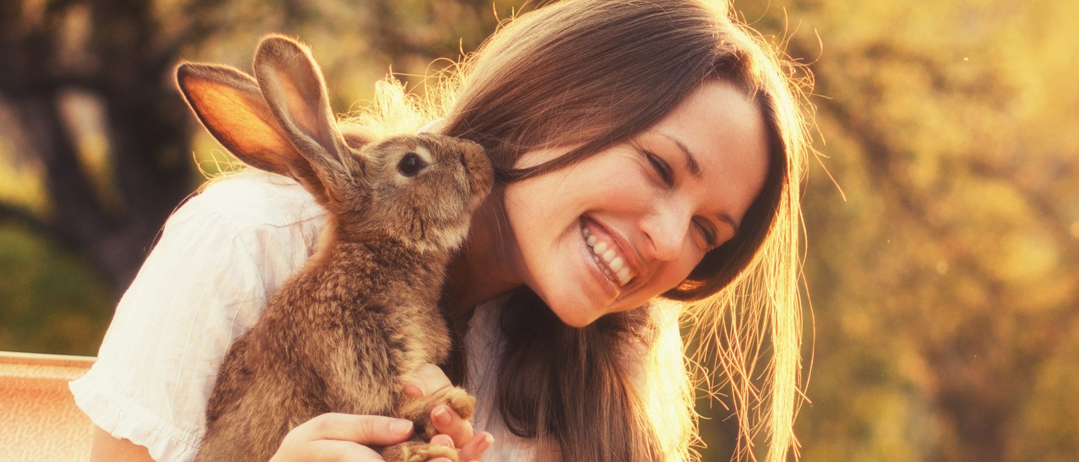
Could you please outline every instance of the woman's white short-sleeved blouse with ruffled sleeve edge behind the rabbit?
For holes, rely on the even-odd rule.
[[[154,460],[192,460],[226,351],[314,252],[324,222],[325,210],[302,186],[259,171],[191,198],[168,219],[124,293],[97,362],[70,383],[76,404],[112,436],[146,446]],[[529,461],[535,448],[505,429],[493,402],[498,303],[476,308],[465,338],[466,387],[478,400],[474,428],[495,438],[484,460]],[[677,323],[666,331],[677,338]],[[681,367],[680,348],[670,353]],[[656,402],[672,393],[654,393],[653,409],[675,404]]]

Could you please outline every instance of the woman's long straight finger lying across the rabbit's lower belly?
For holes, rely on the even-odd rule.
[[[341,439],[361,445],[387,446],[408,439],[412,435],[412,422],[382,416],[329,412],[303,422],[290,434],[297,431],[308,440]]]

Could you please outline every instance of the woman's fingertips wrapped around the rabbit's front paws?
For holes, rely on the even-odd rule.
[[[441,368],[434,364],[424,364],[409,377],[405,394],[415,397],[429,396],[442,393],[452,387],[453,383]],[[463,461],[478,461],[494,443],[494,437],[490,433],[474,434],[472,423],[457,416],[449,406],[436,406],[432,409],[431,421],[440,433],[431,438],[431,443],[461,448],[459,453]]]

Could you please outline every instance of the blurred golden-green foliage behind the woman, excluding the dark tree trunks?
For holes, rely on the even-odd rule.
[[[493,10],[506,17],[517,4]],[[810,169],[805,196],[814,313],[809,403],[795,429],[802,458],[1074,460],[1079,2],[735,6],[817,79],[810,101],[828,172]],[[247,68],[262,32],[300,37],[344,112],[391,66],[423,74],[441,66],[429,66],[435,58],[474,50],[496,24],[493,10],[489,1],[174,0],[153,11],[164,34],[211,31],[183,42],[179,55],[196,60]],[[79,17],[67,20],[78,29]],[[47,213],[41,169],[2,138],[0,201]],[[83,165],[106,169],[107,146],[80,139]],[[216,145],[192,145],[213,169],[205,160]],[[0,226],[0,349],[93,354],[114,295],[78,251],[36,232]],[[701,401],[711,416],[706,460],[725,459],[734,442],[721,404]]]

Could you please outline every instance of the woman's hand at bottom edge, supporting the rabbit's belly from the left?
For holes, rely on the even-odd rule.
[[[382,416],[323,414],[288,432],[281,442],[277,452],[270,460],[272,462],[381,461],[382,457],[369,448],[369,445],[394,445],[405,442],[411,435],[412,422],[408,420]],[[442,440],[438,444],[447,443]],[[436,461],[450,462],[446,458],[432,459],[431,462]]]

